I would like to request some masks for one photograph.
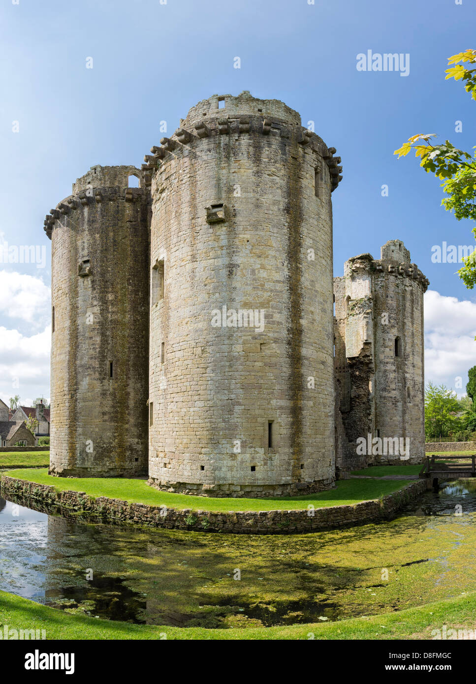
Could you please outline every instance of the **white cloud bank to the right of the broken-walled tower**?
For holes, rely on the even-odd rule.
[[[425,382],[464,394],[468,369],[476,365],[476,303],[428,290],[424,305]]]

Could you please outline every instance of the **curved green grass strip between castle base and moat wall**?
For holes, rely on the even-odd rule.
[[[14,470],[5,473],[9,477],[27,479],[29,482],[49,484],[56,490],[85,492],[94,499],[109,497],[132,503],[166,505],[168,508],[189,508],[208,511],[269,511],[306,508],[313,503],[316,508],[354,504],[369,499],[379,499],[408,484],[409,480],[345,479],[336,483],[336,488],[326,492],[302,497],[279,497],[276,499],[215,499],[194,497],[185,494],[159,492],[148,486],[144,479],[114,477],[53,477],[47,470]]]

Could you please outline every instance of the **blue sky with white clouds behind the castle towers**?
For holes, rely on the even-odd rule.
[[[433,292],[427,380],[464,392],[476,363],[476,291],[457,265],[430,257],[443,241],[473,244],[472,224],[440,207],[438,181],[393,150],[414,133],[476,144],[476,103],[444,78],[447,57],[475,47],[474,18],[471,0],[3,0],[0,233],[10,245],[44,246],[47,262],[0,264],[0,397],[49,396],[45,213],[94,164],[140,166],[163,136],[161,120],[171,133],[198,101],[242,90],[285,101],[337,148],[334,273],[403,239]],[[408,53],[409,75],[359,72],[367,50]]]

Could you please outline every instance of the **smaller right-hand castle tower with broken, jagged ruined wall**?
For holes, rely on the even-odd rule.
[[[399,240],[360,254],[334,278],[335,366],[347,459],[356,465],[425,456],[423,294],[429,281]],[[356,452],[356,440],[406,438],[408,453]],[[368,440],[367,440],[368,441]],[[351,446],[352,445],[352,446]],[[375,445],[376,446],[376,445]],[[343,462],[345,455],[341,454]]]

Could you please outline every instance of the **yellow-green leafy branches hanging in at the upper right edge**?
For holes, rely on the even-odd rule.
[[[466,92],[476,100],[476,68],[468,68],[469,64],[476,64],[476,50],[465,50],[449,57],[445,79],[462,81]],[[420,166],[444,181],[441,187],[448,197],[442,199],[442,206],[453,212],[458,221],[463,218],[476,221],[476,153],[471,155],[460,150],[449,140],[433,144],[434,137],[436,133],[412,135],[394,154],[398,158],[406,157],[410,150],[414,150]],[[476,238],[476,228],[473,228],[473,234]],[[464,265],[458,274],[464,285],[473,289],[476,285],[476,250],[463,257],[462,262]]]

